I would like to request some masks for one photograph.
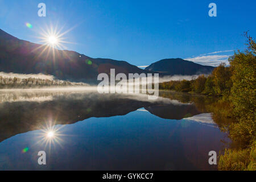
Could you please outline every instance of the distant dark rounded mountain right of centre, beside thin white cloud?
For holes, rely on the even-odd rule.
[[[214,67],[176,58],[157,61],[145,69],[147,71],[162,73],[162,75],[198,75],[208,74],[213,71]]]

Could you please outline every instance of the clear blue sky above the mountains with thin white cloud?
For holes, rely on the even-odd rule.
[[[46,17],[38,4],[46,4]],[[210,17],[209,3],[217,5]],[[256,1],[0,0],[0,28],[39,43],[42,29],[63,27],[65,49],[134,65],[181,57],[205,65],[245,49],[242,34],[256,37]],[[26,23],[32,24],[28,28]],[[58,25],[58,26],[57,26]]]

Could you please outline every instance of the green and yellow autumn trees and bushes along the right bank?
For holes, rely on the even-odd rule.
[[[229,57],[230,66],[220,64],[209,76],[201,75],[191,81],[169,81],[160,89],[219,96],[212,107],[214,121],[227,131],[232,144],[219,156],[220,170],[256,170],[256,43],[245,32],[247,49]]]

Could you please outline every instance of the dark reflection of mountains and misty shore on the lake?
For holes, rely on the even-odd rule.
[[[160,96],[159,100],[150,101],[143,95],[95,91],[0,92],[0,141],[40,129],[49,121],[69,124],[90,117],[125,115],[141,107],[162,118],[182,119],[209,112],[207,105],[214,101],[214,98],[176,92],[160,92]]]

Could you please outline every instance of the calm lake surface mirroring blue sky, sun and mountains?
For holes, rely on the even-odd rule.
[[[2,90],[0,170],[216,169],[208,152],[218,154],[228,138],[205,107],[213,98],[160,96]]]

